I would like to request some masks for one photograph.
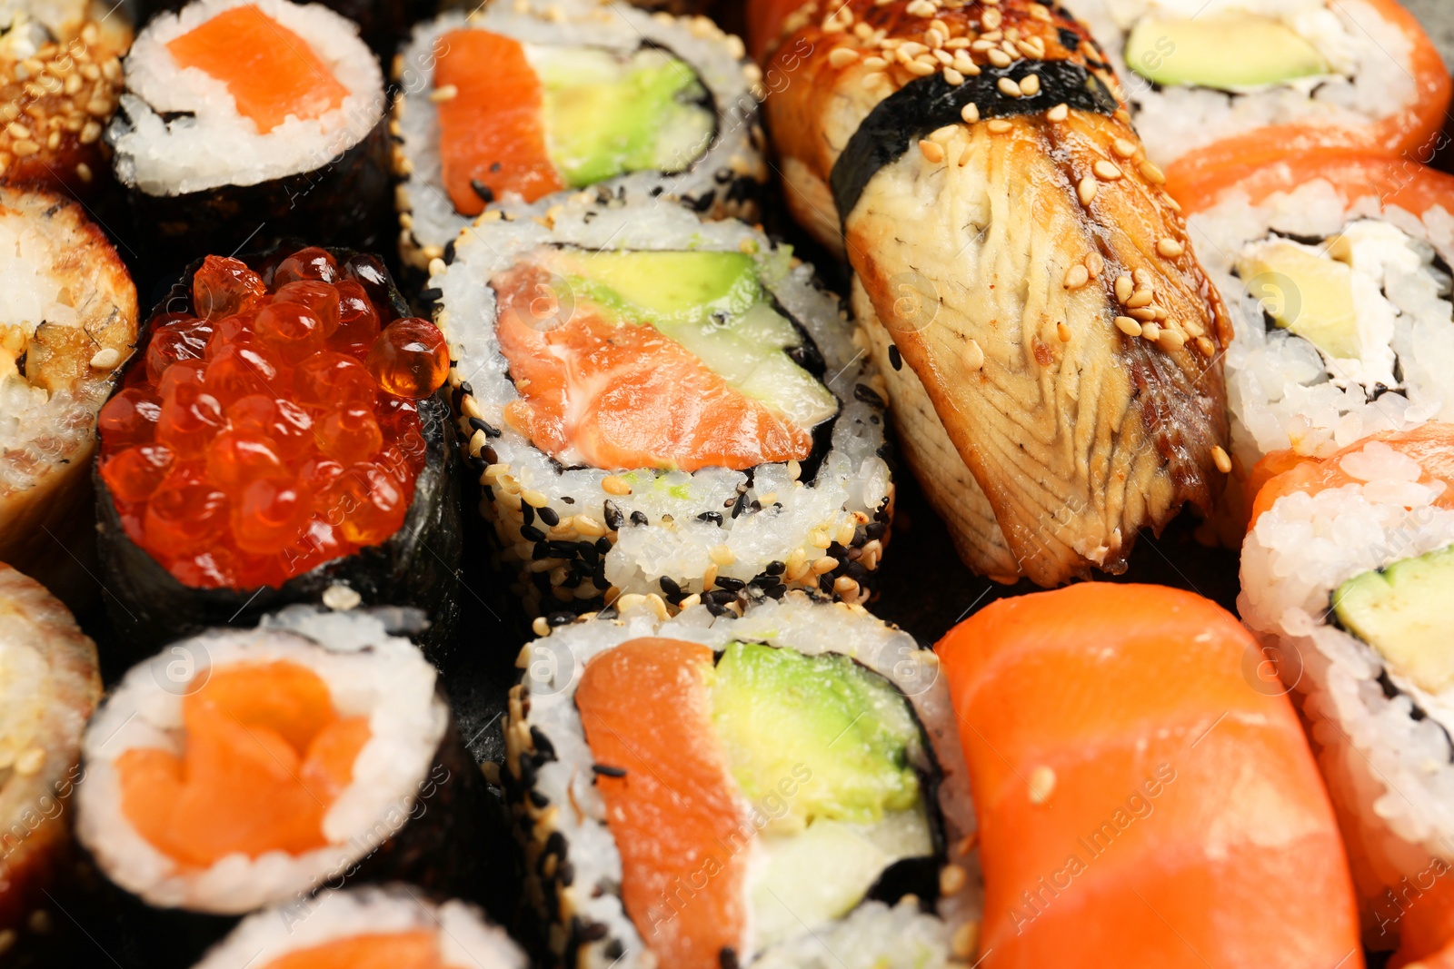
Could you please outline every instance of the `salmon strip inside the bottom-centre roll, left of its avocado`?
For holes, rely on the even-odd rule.
[[[744,853],[723,850],[746,816],[711,712],[712,651],[631,639],[586,664],[576,706],[621,851],[621,898],[662,966],[720,969],[743,952]]]

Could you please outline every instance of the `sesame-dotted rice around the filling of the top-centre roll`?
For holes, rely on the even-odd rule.
[[[710,144],[696,145],[695,157],[680,160],[676,173],[635,171],[592,186],[592,190],[627,203],[676,200],[721,218],[756,216],[756,186],[766,182],[763,135],[758,105],[766,96],[762,71],[746,60],[739,38],[724,33],[707,17],[648,15],[625,3],[491,3],[471,12],[441,15],[414,29],[395,58],[394,76],[401,96],[394,102],[390,134],[395,138],[400,251],[406,261],[425,267],[443,256],[445,247],[470,218],[459,215],[443,187],[439,158],[439,113],[433,100],[433,67],[445,33],[465,28],[491,31],[528,45],[574,45],[616,55],[659,48],[682,58],[707,89],[715,112]],[[743,189],[747,190],[743,190]]]

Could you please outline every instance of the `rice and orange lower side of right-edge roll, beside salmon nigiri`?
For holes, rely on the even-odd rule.
[[[1400,902],[1386,892],[1454,863],[1454,690],[1421,689],[1335,610],[1349,580],[1454,546],[1454,508],[1437,504],[1444,482],[1381,440],[1333,461],[1351,484],[1284,494],[1248,533],[1237,609],[1310,723],[1365,943],[1391,949]]]

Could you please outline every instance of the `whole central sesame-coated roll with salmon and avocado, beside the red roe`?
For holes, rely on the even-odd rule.
[[[883,384],[813,269],[678,206],[544,206],[486,212],[429,280],[526,612],[867,600],[893,510]]]

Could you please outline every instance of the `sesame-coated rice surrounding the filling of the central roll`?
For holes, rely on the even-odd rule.
[[[803,479],[795,461],[760,465],[752,474],[564,466],[512,429],[505,410],[519,394],[499,349],[496,293],[487,280],[538,247],[561,244],[752,254],[766,289],[816,344],[839,402],[816,477]],[[454,261],[435,260],[430,272],[429,286],[441,293],[435,321],[455,362],[451,384],[459,430],[486,485],[480,510],[494,524],[500,559],[518,569],[521,585],[513,591],[532,615],[587,612],[618,594],[656,596],[664,613],[663,596],[675,597],[673,607],[685,604],[683,596],[712,591],[714,577],[779,588],[826,585],[842,599],[867,600],[894,494],[880,456],[883,384],[839,301],[790,250],[742,222],[701,222],[673,205],[601,205],[585,192],[564,202],[486,212],[459,237]],[[525,535],[537,527],[551,542],[596,543],[602,581],[587,574],[570,583],[555,571],[566,558],[535,558],[537,542]],[[842,546],[840,558],[829,554],[835,546]],[[593,562],[593,555],[586,559]],[[537,585],[542,572],[551,574],[548,590]]]

